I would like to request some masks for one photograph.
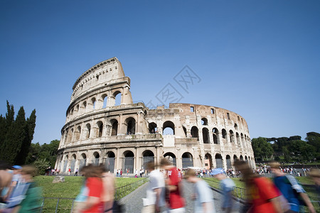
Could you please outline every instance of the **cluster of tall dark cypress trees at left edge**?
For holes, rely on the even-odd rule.
[[[0,160],[23,165],[36,126],[36,110],[26,120],[26,113],[20,107],[14,119],[14,106],[6,102],[6,117],[0,116]]]

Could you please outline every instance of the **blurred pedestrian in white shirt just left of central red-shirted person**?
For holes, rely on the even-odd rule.
[[[154,213],[165,211],[166,185],[164,183],[164,175],[155,169],[154,162],[146,163],[146,170],[149,171],[149,184],[146,189],[146,198],[142,213]]]

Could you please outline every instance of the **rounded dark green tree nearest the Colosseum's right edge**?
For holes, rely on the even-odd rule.
[[[253,138],[251,144],[256,157],[260,157],[262,159],[263,157],[270,158],[273,154],[272,146],[267,142],[267,138]]]

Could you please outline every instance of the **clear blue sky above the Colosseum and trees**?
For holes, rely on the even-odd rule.
[[[0,114],[60,140],[75,80],[117,57],[134,102],[170,83],[180,102],[235,111],[250,136],[320,132],[320,1],[0,1]],[[188,93],[174,76],[201,79]]]

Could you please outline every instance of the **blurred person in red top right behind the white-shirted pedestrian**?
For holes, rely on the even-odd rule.
[[[166,170],[167,173],[166,187],[169,191],[169,212],[186,212],[181,193],[182,185],[181,180],[178,177],[178,170],[166,158],[161,159],[160,166]]]

